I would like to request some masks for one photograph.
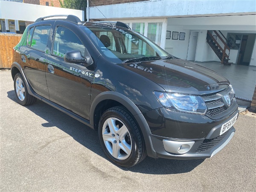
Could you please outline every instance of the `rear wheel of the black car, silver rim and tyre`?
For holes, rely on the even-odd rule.
[[[20,105],[32,105],[35,103],[36,98],[32,95],[29,95],[26,83],[20,73],[17,73],[14,77],[14,90],[17,102]]]

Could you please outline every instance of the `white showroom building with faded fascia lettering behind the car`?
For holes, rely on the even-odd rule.
[[[207,43],[212,35],[219,49],[230,47],[225,51],[229,62],[256,66],[255,0],[137,1],[97,8],[90,4],[89,18],[127,23],[172,55],[191,61],[221,61]]]

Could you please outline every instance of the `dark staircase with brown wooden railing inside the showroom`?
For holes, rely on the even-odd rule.
[[[226,41],[227,39],[225,38],[225,36],[222,34],[221,31],[220,34],[216,31],[216,30],[213,30],[213,32],[215,33],[215,35],[217,35],[217,37],[221,40],[221,42],[224,44],[224,48],[221,47],[221,45],[218,43],[218,41],[213,37],[212,33],[207,31],[207,34],[209,35],[209,37],[211,38],[211,40],[216,44],[216,46],[218,46],[218,48],[221,50],[222,52],[222,57],[220,58],[221,59],[221,64],[227,64],[228,63],[228,60],[229,60],[229,55],[230,55],[230,47],[227,45]],[[223,38],[226,40],[224,41]],[[226,53],[226,50],[228,50],[228,54]]]

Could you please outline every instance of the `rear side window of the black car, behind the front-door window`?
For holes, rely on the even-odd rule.
[[[33,33],[33,30],[30,29],[28,45],[35,49],[45,51],[45,49],[47,47],[47,40],[49,37],[50,29],[51,29],[51,26],[49,26],[49,25],[36,26],[34,33]],[[33,36],[32,36],[32,34],[33,34]],[[30,40],[31,36],[32,36],[32,40]]]

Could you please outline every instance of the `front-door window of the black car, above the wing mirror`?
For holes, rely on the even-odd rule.
[[[84,55],[85,47],[73,31],[58,26],[52,54],[64,58],[65,53],[72,50],[80,51]]]

